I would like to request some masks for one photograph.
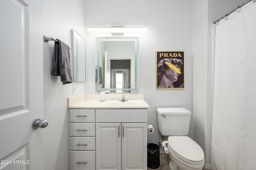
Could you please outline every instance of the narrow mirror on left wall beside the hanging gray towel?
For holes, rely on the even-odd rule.
[[[86,81],[85,72],[85,40],[72,30],[72,49],[73,49],[73,81]]]

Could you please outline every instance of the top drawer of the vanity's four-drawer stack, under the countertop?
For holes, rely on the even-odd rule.
[[[95,109],[70,109],[70,122],[95,122]]]

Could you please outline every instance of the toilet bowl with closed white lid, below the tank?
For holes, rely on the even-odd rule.
[[[204,152],[202,148],[188,136],[168,137],[169,156],[178,170],[202,170]]]

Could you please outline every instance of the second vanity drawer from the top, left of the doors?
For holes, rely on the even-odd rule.
[[[95,136],[95,123],[70,123],[70,136]]]

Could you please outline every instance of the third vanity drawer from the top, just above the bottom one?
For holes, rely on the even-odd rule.
[[[70,137],[70,150],[95,150],[95,137]]]

